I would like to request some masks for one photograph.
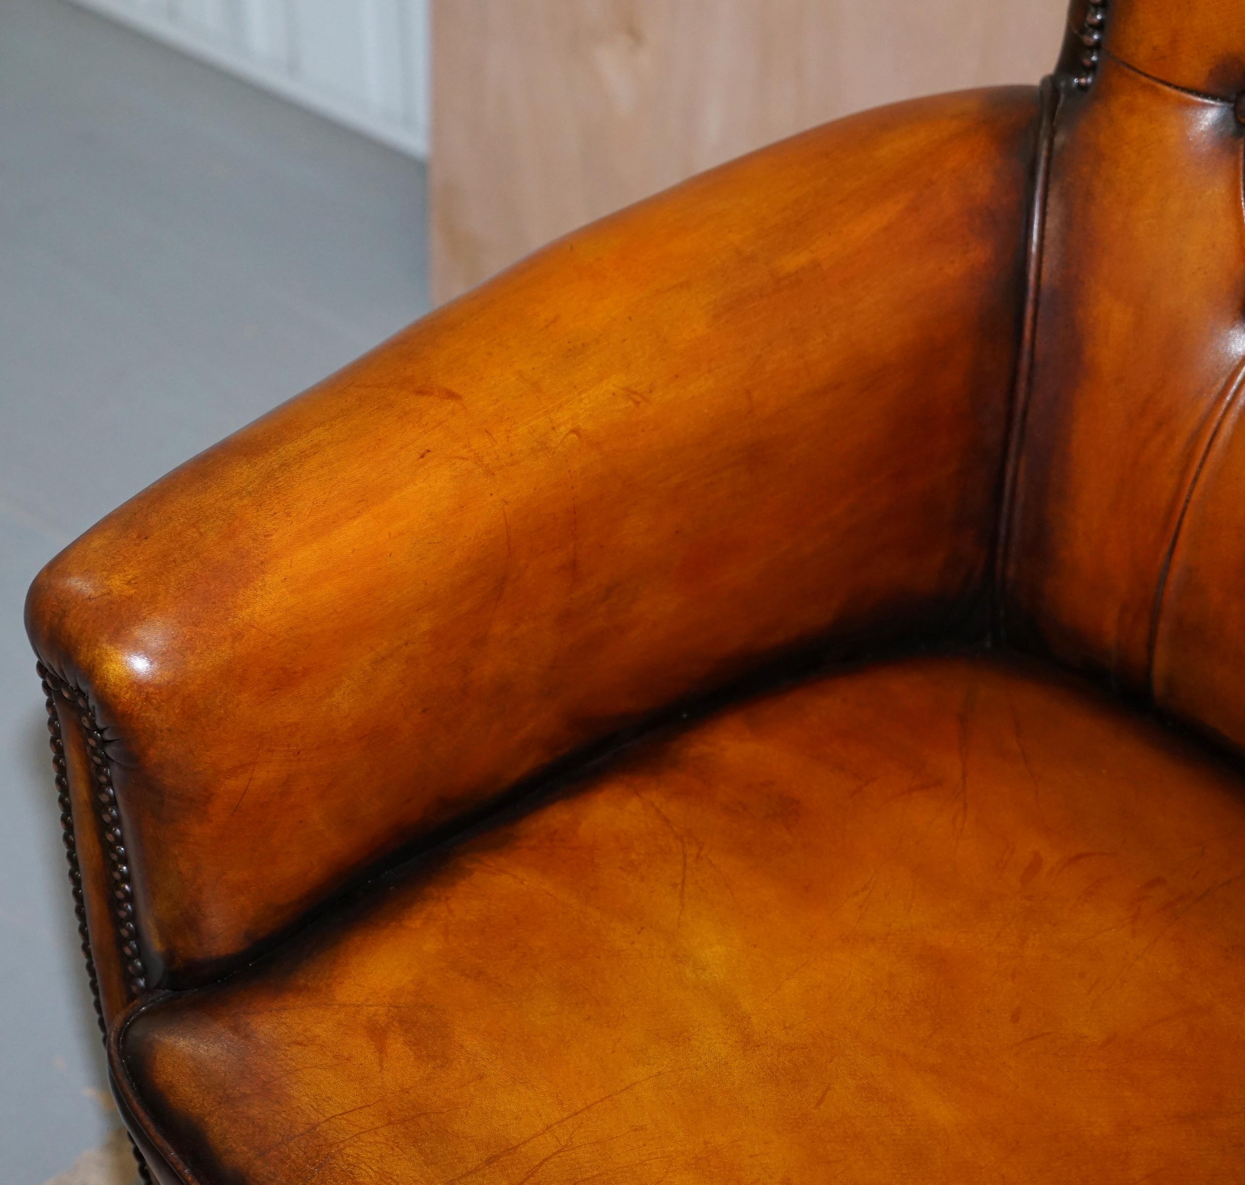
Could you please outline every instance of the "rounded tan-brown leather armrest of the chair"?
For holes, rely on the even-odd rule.
[[[52,560],[27,627],[107,759],[141,990],[766,656],[979,606],[1036,117],[926,100],[695,178]]]

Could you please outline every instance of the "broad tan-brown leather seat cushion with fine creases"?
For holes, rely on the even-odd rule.
[[[1238,774],[944,656],[636,747],[118,1049],[203,1183],[1210,1185],[1243,1006]]]

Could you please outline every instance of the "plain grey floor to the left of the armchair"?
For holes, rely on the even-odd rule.
[[[243,82],[63,0],[0,0],[4,1185],[85,1153],[86,1180],[116,1123],[26,585],[129,494],[425,311],[423,194],[415,162]]]

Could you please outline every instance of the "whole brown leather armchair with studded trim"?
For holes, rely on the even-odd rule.
[[[1077,0],[45,569],[161,1181],[1245,1180],[1241,91],[1239,0]]]

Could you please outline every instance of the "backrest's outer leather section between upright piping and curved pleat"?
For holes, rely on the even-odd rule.
[[[1160,571],[1223,410],[1225,377],[1241,355],[1231,266],[1241,228],[1240,129],[1226,105],[1163,87],[1114,56],[1102,65],[1089,95],[1066,96],[1057,131],[1005,596],[1012,642],[1148,697]],[[1153,137],[1125,117],[1155,123],[1149,151],[1165,153],[1168,169],[1145,166],[1144,139]],[[1185,161],[1188,176],[1179,169]],[[1128,168],[1142,176],[1132,179]],[[1096,178],[1106,187],[1097,205],[1083,188],[1077,195],[1078,183]],[[1120,204],[1134,190],[1135,208]],[[1116,215],[1103,202],[1119,207],[1122,238],[1109,233]],[[1188,240],[1179,233],[1185,217],[1201,219]],[[1208,258],[1198,254],[1203,243]],[[1138,269],[1153,275],[1148,289]],[[1175,299],[1175,276],[1196,279],[1203,291],[1191,302]],[[1104,283],[1097,302],[1082,288]],[[1140,347],[1135,357],[1129,341]],[[1103,452],[1094,433],[1119,446]],[[1108,522],[1111,505],[1130,522]],[[1107,556],[1118,558],[1114,575]]]

